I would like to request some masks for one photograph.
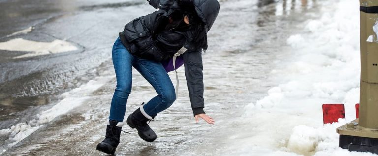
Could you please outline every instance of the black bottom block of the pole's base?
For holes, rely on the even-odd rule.
[[[349,151],[378,154],[378,139],[350,135],[340,135],[339,147]]]

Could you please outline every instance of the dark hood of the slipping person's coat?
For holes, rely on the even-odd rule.
[[[198,16],[207,25],[207,31],[209,31],[219,13],[218,0],[194,0],[194,7]]]

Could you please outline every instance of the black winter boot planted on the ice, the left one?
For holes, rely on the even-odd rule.
[[[120,135],[123,125],[124,123],[109,120],[108,125],[106,125],[105,139],[97,144],[96,150],[107,154],[114,154],[118,144],[120,143]]]

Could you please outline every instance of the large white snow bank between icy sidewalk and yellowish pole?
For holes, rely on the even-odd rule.
[[[256,155],[259,147],[270,149],[257,152],[260,156],[377,156],[338,147],[336,128],[355,119],[359,103],[359,2],[332,5],[335,12],[323,8],[319,20],[307,21],[303,33],[287,39],[292,51],[271,72],[279,85],[245,107],[248,124],[256,126],[247,128],[253,136],[235,145],[243,154]],[[346,119],[323,126],[323,103],[344,103]]]

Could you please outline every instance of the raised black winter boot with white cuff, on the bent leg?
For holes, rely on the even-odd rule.
[[[141,108],[143,109],[143,105],[141,106]],[[134,111],[134,113],[131,113],[128,116],[126,123],[131,128],[136,128],[136,130],[138,130],[138,135],[140,136],[140,138],[147,142],[153,142],[156,139],[156,134],[147,124],[147,121],[151,121],[153,120],[153,118],[150,116],[148,117],[151,119],[146,118],[142,114],[140,108],[138,108]]]

